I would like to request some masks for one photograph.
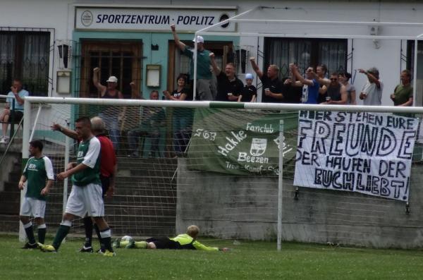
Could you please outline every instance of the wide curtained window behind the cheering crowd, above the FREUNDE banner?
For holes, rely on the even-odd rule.
[[[347,66],[347,39],[266,38],[264,41],[264,69],[276,64],[280,78],[289,76],[289,63],[295,62],[304,73],[309,66],[328,66],[328,74],[343,72]]]

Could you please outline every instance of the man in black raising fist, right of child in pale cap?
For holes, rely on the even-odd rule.
[[[279,80],[278,66],[271,64],[267,68],[267,73],[263,73],[257,66],[254,57],[250,57],[250,61],[252,68],[263,84],[262,102],[283,102],[283,82]]]

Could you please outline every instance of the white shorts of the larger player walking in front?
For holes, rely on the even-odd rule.
[[[84,187],[73,185],[65,212],[79,217],[85,217],[87,213],[90,217],[104,217],[102,186],[94,183]]]

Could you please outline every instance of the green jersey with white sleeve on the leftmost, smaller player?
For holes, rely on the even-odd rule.
[[[46,200],[45,195],[41,195],[41,190],[46,186],[47,180],[54,180],[53,165],[48,157],[31,157],[28,159],[23,176],[27,178],[26,197],[37,200]]]

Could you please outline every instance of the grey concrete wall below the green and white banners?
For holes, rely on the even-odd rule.
[[[413,164],[410,214],[405,202],[358,193],[300,188],[283,180],[283,241],[374,248],[423,246],[423,166]],[[278,178],[227,176],[178,161],[176,231],[190,224],[219,238],[276,238]]]

